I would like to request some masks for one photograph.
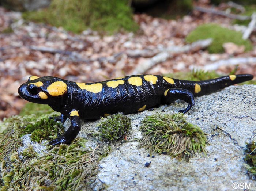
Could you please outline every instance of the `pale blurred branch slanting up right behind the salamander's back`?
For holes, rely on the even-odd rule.
[[[182,47],[178,46],[170,46],[166,49],[161,49],[161,52],[155,55],[152,58],[149,58],[147,61],[143,62],[142,64],[138,65],[132,72],[133,75],[136,74],[143,74],[148,69],[153,67],[154,65],[164,62],[169,58],[172,58],[175,54],[178,53],[187,53],[187,52],[195,52],[200,49],[204,49],[207,46],[209,46],[212,43],[212,39],[206,39],[206,40],[199,40],[196,42],[193,42],[190,45],[185,45]]]

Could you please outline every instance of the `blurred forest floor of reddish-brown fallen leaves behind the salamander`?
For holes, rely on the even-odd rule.
[[[217,8],[222,9],[223,5]],[[77,82],[103,81],[136,73],[145,62],[155,62],[148,74],[189,72],[229,58],[256,57],[256,33],[250,35],[253,50],[244,52],[229,45],[224,53],[206,50],[170,53],[161,60],[159,53],[168,47],[184,47],[185,37],[197,26],[217,23],[232,28],[232,19],[193,11],[178,20],[135,14],[138,33],[108,36],[86,30],[73,34],[45,24],[25,22],[20,12],[0,7],[0,120],[18,114],[26,103],[17,89],[31,75],[56,76]],[[161,55],[160,55],[161,56]],[[228,74],[235,65],[221,65],[217,73]],[[237,73],[256,75],[255,63],[240,64]]]

